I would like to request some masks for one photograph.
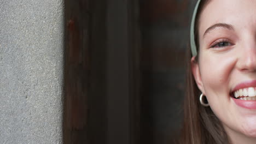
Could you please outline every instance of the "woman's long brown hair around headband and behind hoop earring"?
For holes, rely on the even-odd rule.
[[[210,0],[202,0],[197,11],[195,23],[195,41],[199,47],[198,27],[199,18],[203,8],[206,7]],[[190,47],[189,47],[190,48]],[[197,57],[199,49],[197,48]],[[204,107],[200,104],[199,95],[201,94],[197,88],[191,71],[191,50],[187,53],[187,91],[184,99],[184,122],[181,131],[181,137],[178,143],[182,144],[226,144],[229,143],[228,136],[225,133],[222,123],[214,115],[211,107]],[[196,58],[198,59],[198,58]],[[197,60],[196,60],[197,61]]]

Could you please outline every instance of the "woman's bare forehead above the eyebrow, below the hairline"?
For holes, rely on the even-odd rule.
[[[214,0],[203,8],[199,20],[199,36],[216,23],[229,23],[234,28],[255,26],[255,0]]]

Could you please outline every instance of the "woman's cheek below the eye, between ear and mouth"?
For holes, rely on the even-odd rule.
[[[219,103],[219,100],[229,100],[235,64],[236,58],[232,56],[212,54],[201,57],[199,63],[201,80],[211,107],[223,107],[225,104]]]

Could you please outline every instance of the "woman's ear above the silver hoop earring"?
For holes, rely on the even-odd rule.
[[[201,79],[201,73],[200,73],[200,68],[199,68],[199,63],[195,60],[195,57],[191,58],[191,70],[194,76],[194,79],[196,81],[197,87],[200,89],[200,91],[205,94],[205,91],[203,89],[203,83]]]

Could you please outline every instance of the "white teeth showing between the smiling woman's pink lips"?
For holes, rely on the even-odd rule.
[[[241,88],[232,94],[235,99],[256,100],[256,87]]]

